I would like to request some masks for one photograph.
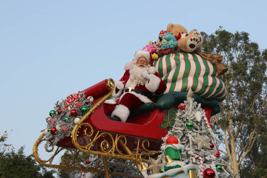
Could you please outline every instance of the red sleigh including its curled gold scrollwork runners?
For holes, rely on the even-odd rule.
[[[132,175],[128,175],[125,171],[124,173],[109,172],[108,167],[112,166],[112,163],[109,163],[107,158],[131,160],[139,169],[140,156],[143,151],[146,152],[146,155],[150,155],[151,157],[159,155],[160,146],[163,143],[161,139],[168,134],[168,128],[172,128],[174,125],[178,105],[184,100],[176,101],[176,103],[172,101],[172,103],[175,104],[171,105],[169,109],[153,109],[150,110],[150,112],[129,118],[125,123],[117,122],[110,120],[105,115],[102,104],[111,95],[113,89],[114,81],[109,79],[103,80],[83,90],[86,96],[93,96],[93,107],[90,108],[74,126],[71,136],[62,139],[56,144],[57,148],[55,150],[54,147],[52,147],[51,150],[45,148],[47,152],[54,152],[47,160],[43,160],[39,157],[39,145],[41,142],[46,141],[44,133],[39,136],[33,147],[33,155],[37,162],[46,167],[95,172],[105,174],[107,177],[109,177],[109,174],[132,177]],[[160,97],[163,96],[168,96],[168,93]],[[195,98],[195,101],[198,100],[201,103],[201,99],[199,98]],[[159,100],[160,99],[158,99],[158,101]],[[154,106],[158,101],[156,103],[150,103],[150,105]],[[163,101],[165,101],[165,98],[163,98]],[[166,100],[166,102],[168,104],[171,103],[169,100]],[[213,107],[213,109],[209,106],[202,106],[206,112],[208,121],[210,116],[214,114],[214,110],[216,110],[213,105],[209,105]],[[146,111],[146,109],[143,109],[143,111]],[[63,155],[61,157],[62,165],[53,164],[55,156],[62,154],[64,150],[68,150],[71,153],[71,158],[67,155]],[[95,167],[84,166],[84,164],[78,161],[78,157],[81,153],[101,156],[104,165]],[[71,160],[71,163],[66,163],[64,159],[67,159],[67,162]],[[150,163],[150,160],[142,158],[142,162]]]

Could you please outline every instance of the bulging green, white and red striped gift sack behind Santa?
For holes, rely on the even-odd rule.
[[[161,79],[166,83],[165,93],[187,92],[189,88],[204,99],[224,100],[225,85],[218,78],[216,67],[194,53],[171,53],[153,62]]]

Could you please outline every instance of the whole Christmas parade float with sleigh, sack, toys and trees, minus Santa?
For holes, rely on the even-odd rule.
[[[222,56],[201,53],[203,41],[198,31],[188,33],[181,25],[169,24],[157,41],[143,47],[150,52],[167,89],[153,103],[131,112],[126,122],[110,120],[104,113],[103,103],[114,90],[112,79],[57,101],[34,144],[37,162],[89,172],[88,177],[94,173],[106,177],[230,177],[231,168],[220,158],[220,140],[210,123],[226,96],[220,76],[227,68],[221,64]],[[42,159],[38,149],[51,153],[50,158]],[[71,154],[63,155],[66,150]],[[81,154],[101,158],[102,164],[80,161]],[[57,155],[63,155],[61,164],[54,163]],[[115,159],[131,161],[141,174],[129,174],[126,168],[114,171]]]

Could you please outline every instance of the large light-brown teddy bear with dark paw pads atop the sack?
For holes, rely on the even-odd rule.
[[[172,24],[170,23],[167,26],[167,32],[171,32],[174,34],[175,38],[177,39],[177,46],[185,51],[185,52],[192,52],[196,49],[202,51],[202,44],[203,44],[203,36],[196,30],[190,31],[188,34],[185,27],[179,24]]]

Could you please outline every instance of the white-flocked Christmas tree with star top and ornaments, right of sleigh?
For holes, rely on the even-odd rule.
[[[168,131],[168,135],[163,138],[165,142],[163,146],[168,143],[174,143],[175,145],[175,142],[177,142],[177,145],[178,143],[183,145],[183,148],[177,148],[182,157],[181,162],[185,165],[194,164],[198,166],[198,178],[233,177],[231,167],[220,157],[220,151],[214,146],[217,145],[216,143],[220,143],[220,140],[211,129],[212,124],[208,123],[201,104],[194,102],[192,97],[193,92],[189,90],[187,101],[184,101],[184,104],[179,104],[175,124],[173,129]],[[175,139],[171,140],[170,136],[175,136],[177,141]],[[167,149],[165,149],[167,155],[172,155],[174,158],[175,156],[177,157],[178,152],[176,150],[171,147]],[[165,158],[163,157],[163,163],[164,161]],[[177,165],[176,167],[164,166],[163,170],[167,171],[174,168],[177,168]]]

